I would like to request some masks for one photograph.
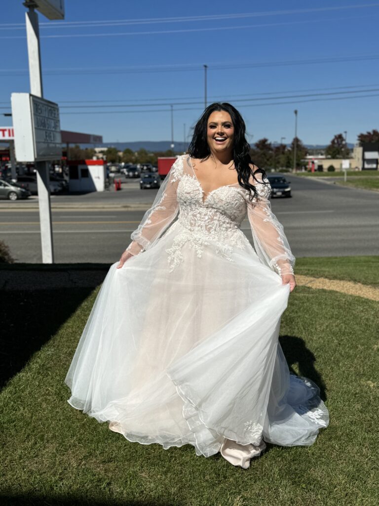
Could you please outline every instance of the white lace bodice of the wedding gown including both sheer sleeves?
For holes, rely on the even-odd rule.
[[[183,261],[184,244],[191,246],[199,258],[204,247],[211,245],[216,255],[232,262],[235,247],[251,247],[241,230],[248,215],[254,246],[261,260],[279,274],[292,273],[295,258],[282,226],[271,212],[268,200],[271,188],[263,182],[256,185],[259,196],[252,200],[239,184],[221,186],[205,197],[191,158],[188,155],[178,157],[152,208],[132,233],[133,242],[127,250],[135,255],[151,247],[178,215],[172,225],[172,244],[166,249],[171,271]]]

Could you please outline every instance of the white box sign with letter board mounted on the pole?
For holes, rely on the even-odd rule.
[[[61,159],[58,104],[30,93],[12,93],[11,102],[17,160]]]

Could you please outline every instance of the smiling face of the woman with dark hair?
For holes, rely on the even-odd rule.
[[[207,142],[211,151],[224,153],[233,148],[234,126],[226,111],[213,111],[208,118]]]

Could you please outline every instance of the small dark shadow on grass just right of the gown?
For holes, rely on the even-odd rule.
[[[315,368],[316,357],[306,347],[303,339],[294,335],[281,335],[279,338],[280,346],[285,354],[290,371],[299,375],[293,368],[298,365],[300,376],[311,379],[320,389],[320,397],[326,400],[326,387],[321,374]]]

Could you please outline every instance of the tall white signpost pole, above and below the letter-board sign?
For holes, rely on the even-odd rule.
[[[41,58],[39,50],[38,15],[33,5],[26,6],[25,13],[26,37],[28,42],[30,93],[43,98]],[[39,226],[41,231],[42,262],[54,263],[52,212],[50,205],[50,176],[49,164],[46,161],[35,163],[37,170],[37,191],[39,205]]]

